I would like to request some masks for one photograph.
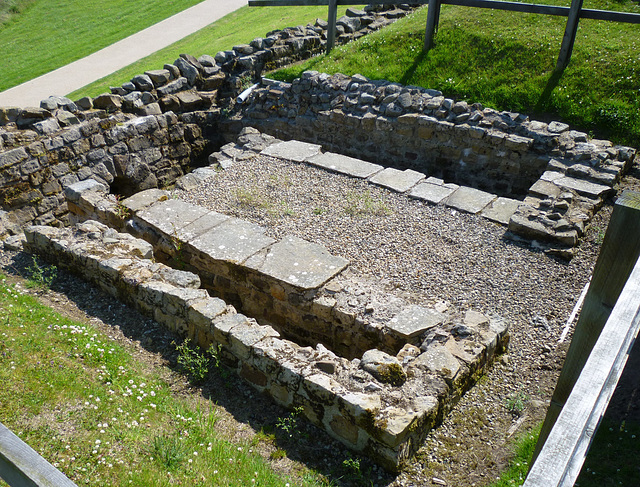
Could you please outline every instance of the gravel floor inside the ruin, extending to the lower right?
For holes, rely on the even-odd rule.
[[[390,293],[499,314],[511,324],[509,354],[434,430],[392,485],[485,485],[511,453],[510,439],[544,417],[566,345],[562,333],[599,251],[605,207],[565,262],[505,240],[505,228],[431,206],[362,180],[258,156],[238,161],[174,197],[293,234],[351,261]],[[570,337],[569,337],[570,338]],[[437,482],[436,482],[437,484]]]

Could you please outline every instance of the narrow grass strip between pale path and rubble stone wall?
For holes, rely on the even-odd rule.
[[[339,8],[338,15],[344,15],[346,8]],[[256,37],[264,37],[271,30],[306,25],[315,22],[316,18],[326,19],[327,7],[243,7],[171,46],[69,94],[69,97],[75,100],[107,92],[109,86],[119,86],[137,74],[162,68],[165,63],[173,62],[180,53],[196,57],[202,54],[215,55],[235,45],[247,44]]]

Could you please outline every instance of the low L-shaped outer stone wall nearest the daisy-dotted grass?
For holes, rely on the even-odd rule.
[[[396,356],[374,349],[347,360],[322,345],[301,347],[236,313],[199,289],[195,274],[151,260],[151,245],[129,234],[95,221],[32,226],[25,234],[30,251],[203,347],[219,345],[225,364],[253,387],[284,406],[302,406],[310,421],[390,470],[417,451],[459,397],[460,384],[481,372],[488,352],[479,342],[502,343],[504,329],[496,332],[495,323],[467,312],[461,336],[422,349],[407,345]]]

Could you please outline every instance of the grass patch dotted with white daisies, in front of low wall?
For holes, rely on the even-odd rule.
[[[321,485],[230,442],[216,405],[161,372],[0,275],[0,422],[78,485]]]

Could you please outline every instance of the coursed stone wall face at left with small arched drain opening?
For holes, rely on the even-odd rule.
[[[4,231],[18,233],[29,222],[65,225],[64,190],[78,181],[92,178],[129,195],[172,184],[211,151],[198,125],[171,112],[94,115],[64,129],[53,118],[28,130],[0,128]]]

